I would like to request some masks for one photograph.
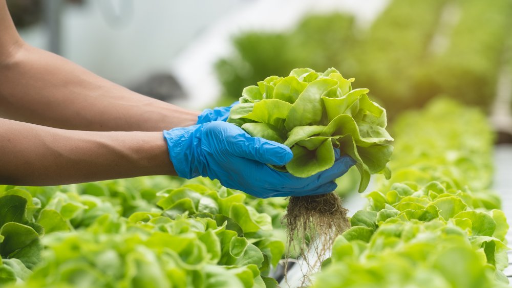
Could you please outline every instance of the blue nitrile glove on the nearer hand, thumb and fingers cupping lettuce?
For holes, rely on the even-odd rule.
[[[308,178],[298,178],[271,165],[285,165],[293,154],[290,148],[263,138],[251,137],[227,122],[208,122],[163,131],[169,158],[180,177],[199,175],[218,179],[227,188],[255,197],[285,197],[324,194],[334,191],[334,180],[355,164],[339,157],[333,167]],[[337,150],[337,149],[336,149]]]

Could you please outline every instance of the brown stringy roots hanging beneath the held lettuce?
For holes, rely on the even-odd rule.
[[[287,227],[288,255],[296,252],[297,256],[302,256],[308,265],[304,275],[307,279],[309,272],[317,270],[330,255],[334,239],[350,227],[347,209],[335,192],[292,196],[289,201],[283,218]],[[293,249],[295,251],[290,251]]]

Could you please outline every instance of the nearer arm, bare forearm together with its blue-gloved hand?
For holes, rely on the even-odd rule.
[[[226,122],[175,128],[162,137],[161,132],[75,131],[0,119],[0,135],[0,184],[10,185],[201,175],[266,198],[331,192],[334,180],[354,164],[337,158],[332,168],[297,178],[267,166],[290,161],[288,147],[250,137]]]

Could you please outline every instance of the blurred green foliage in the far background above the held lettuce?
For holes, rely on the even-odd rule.
[[[284,33],[234,37],[236,54],[216,64],[221,104],[244,87],[296,67],[335,67],[358,79],[393,117],[439,94],[486,109],[512,29],[508,0],[393,0],[368,29],[354,16],[306,17]]]

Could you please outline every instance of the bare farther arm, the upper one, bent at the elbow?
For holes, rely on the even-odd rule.
[[[0,117],[91,131],[162,131],[199,112],[152,99],[27,45],[0,0]]]

